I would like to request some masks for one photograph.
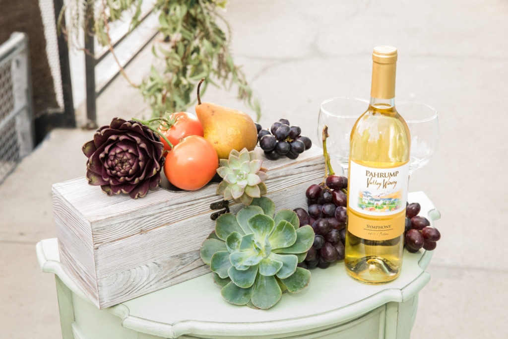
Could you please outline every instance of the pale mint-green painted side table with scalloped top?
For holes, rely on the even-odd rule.
[[[423,192],[409,193],[431,225],[439,212]],[[44,272],[55,274],[65,339],[154,338],[409,338],[418,292],[430,280],[432,252],[404,250],[401,275],[386,285],[364,285],[342,262],[314,269],[309,286],[284,294],[268,311],[227,303],[205,274],[99,310],[62,270],[56,239],[37,246]]]

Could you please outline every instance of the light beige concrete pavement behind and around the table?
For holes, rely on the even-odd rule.
[[[440,122],[433,159],[410,180],[410,190],[425,191],[442,215],[411,337],[508,337],[508,3],[234,0],[225,17],[235,61],[260,100],[261,124],[288,117],[313,141],[321,101],[368,97],[372,47],[399,49],[397,100],[436,107]],[[146,48],[126,71],[141,79],[151,58]],[[209,87],[205,101],[249,112],[224,90]],[[99,125],[150,114],[121,77],[97,106]],[[55,236],[51,184],[84,175],[80,149],[92,134],[54,130],[0,186],[1,337],[60,335],[54,279],[40,271],[35,243]]]

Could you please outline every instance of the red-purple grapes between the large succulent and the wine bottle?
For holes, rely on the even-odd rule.
[[[311,185],[307,196],[308,211],[295,209],[300,218],[314,229],[314,243],[302,267],[327,268],[331,263],[344,259],[347,178],[330,175],[326,178],[326,186]]]

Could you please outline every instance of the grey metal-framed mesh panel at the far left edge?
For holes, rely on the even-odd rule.
[[[0,184],[34,147],[28,38],[0,45]]]

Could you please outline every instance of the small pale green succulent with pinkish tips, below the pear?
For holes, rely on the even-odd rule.
[[[255,151],[247,148],[238,152],[233,149],[229,159],[221,159],[217,173],[223,181],[217,186],[217,194],[224,195],[224,200],[241,201],[245,206],[250,205],[253,198],[266,194],[263,181],[268,178],[265,169],[261,168],[263,161],[258,160]]]

